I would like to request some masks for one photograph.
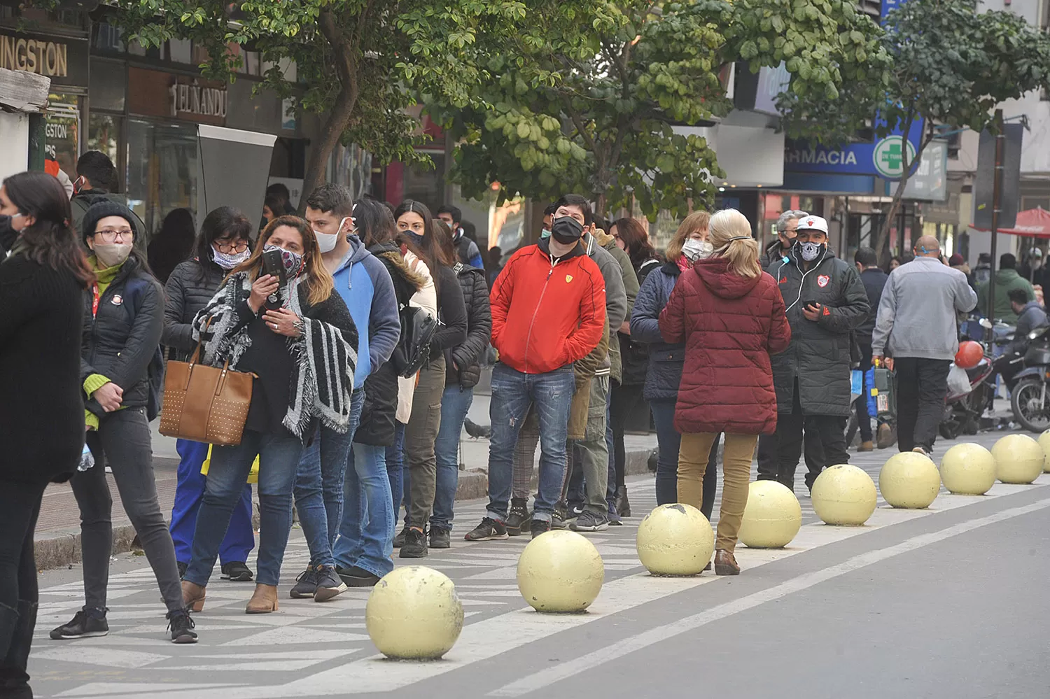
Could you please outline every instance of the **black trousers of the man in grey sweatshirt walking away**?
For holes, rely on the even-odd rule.
[[[944,417],[950,366],[946,359],[901,357],[894,361],[897,445],[901,451],[911,451],[915,447],[933,449],[937,428]]]

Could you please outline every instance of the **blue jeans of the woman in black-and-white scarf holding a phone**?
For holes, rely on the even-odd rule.
[[[280,581],[280,563],[292,528],[292,488],[302,457],[302,442],[287,430],[257,432],[246,429],[240,444],[211,450],[208,482],[193,532],[193,557],[184,579],[208,585],[218,547],[226,536],[230,515],[248,483],[255,454],[259,457],[259,585]]]

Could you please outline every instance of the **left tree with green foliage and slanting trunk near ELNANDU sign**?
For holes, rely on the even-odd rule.
[[[321,115],[303,191],[323,182],[340,142],[380,161],[429,162],[415,152],[422,135],[405,108],[411,88],[449,105],[466,104],[481,73],[479,36],[525,18],[519,0],[112,0],[110,21],[130,40],[160,45],[193,39],[208,48],[206,76],[232,80],[240,58],[230,45],[274,64],[264,85]],[[294,61],[296,82],[277,67]]]

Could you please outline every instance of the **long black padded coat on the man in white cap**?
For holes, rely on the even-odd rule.
[[[792,253],[766,270],[788,308],[791,345],[771,357],[778,412],[791,412],[798,379],[803,415],[849,415],[850,334],[867,318],[869,305],[857,268],[825,249],[806,272]],[[806,303],[821,304],[816,320],[802,315]]]

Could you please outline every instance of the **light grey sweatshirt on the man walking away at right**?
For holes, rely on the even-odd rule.
[[[936,257],[916,257],[886,280],[872,354],[950,361],[959,351],[956,314],[976,304],[965,274]]]

